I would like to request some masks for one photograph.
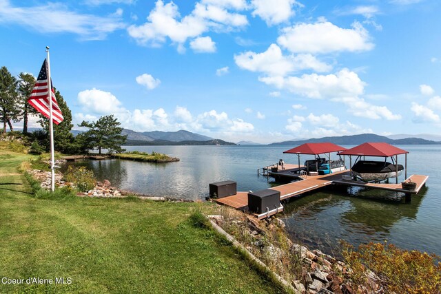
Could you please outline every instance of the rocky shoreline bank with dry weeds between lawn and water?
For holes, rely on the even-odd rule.
[[[295,293],[370,294],[384,293],[380,278],[367,270],[365,284],[351,282],[353,270],[344,262],[295,244],[278,218],[255,220],[251,216],[210,216],[210,220],[232,235],[254,258],[283,279]],[[293,266],[295,264],[295,266]]]

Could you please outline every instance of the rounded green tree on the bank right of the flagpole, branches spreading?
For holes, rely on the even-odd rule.
[[[101,149],[107,149],[109,152],[116,151],[117,153],[124,151],[121,145],[127,141],[127,135],[121,135],[123,128],[120,125],[121,123],[112,114],[101,116],[99,120],[92,123],[83,120],[79,127],[88,127],[88,132],[83,133],[85,141],[89,144],[89,147],[97,148],[99,154],[101,154]]]

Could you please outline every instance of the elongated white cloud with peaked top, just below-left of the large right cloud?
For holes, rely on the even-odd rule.
[[[263,72],[270,76],[285,76],[289,72],[312,69],[317,72],[327,72],[331,66],[318,61],[311,54],[283,56],[278,45],[271,44],[267,51],[256,53],[252,51],[234,55],[238,67],[251,72]]]

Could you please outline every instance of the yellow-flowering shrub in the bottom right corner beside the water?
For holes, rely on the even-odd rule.
[[[387,242],[370,242],[358,249],[343,242],[342,254],[354,271],[364,269],[365,265],[376,272],[384,280],[388,293],[441,293],[438,255],[398,249]]]

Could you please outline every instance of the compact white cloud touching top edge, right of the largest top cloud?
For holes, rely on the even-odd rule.
[[[302,7],[296,0],[252,0],[252,15],[263,19],[267,25],[276,25],[289,20],[295,14],[294,7]]]

